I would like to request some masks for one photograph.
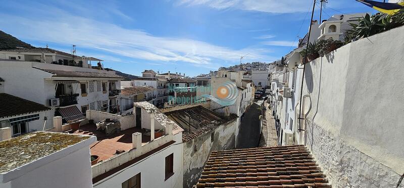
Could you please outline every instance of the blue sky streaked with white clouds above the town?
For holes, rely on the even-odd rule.
[[[272,62],[308,31],[311,0],[2,1],[0,30],[36,47],[190,76],[243,62]],[[374,11],[355,0],[328,0],[323,18]],[[319,5],[314,19],[319,19]],[[305,19],[306,18],[306,19]],[[300,29],[301,28],[301,29]],[[293,46],[296,46],[294,42]]]

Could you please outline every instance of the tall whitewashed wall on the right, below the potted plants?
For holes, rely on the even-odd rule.
[[[311,103],[301,136],[335,187],[395,187],[404,172],[402,33],[361,39],[307,64]]]

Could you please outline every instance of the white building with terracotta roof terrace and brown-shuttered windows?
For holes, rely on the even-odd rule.
[[[134,103],[133,111],[128,116],[87,111],[94,122],[120,122],[120,133],[106,137],[94,124],[73,133],[97,135],[90,149],[99,157],[89,173],[93,187],[181,187],[183,129],[147,102]]]

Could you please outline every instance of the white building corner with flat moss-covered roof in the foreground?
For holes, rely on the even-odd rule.
[[[1,141],[0,187],[92,188],[89,145],[95,141],[51,132]]]

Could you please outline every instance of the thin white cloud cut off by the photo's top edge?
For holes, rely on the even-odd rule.
[[[179,0],[177,5],[206,5],[214,9],[241,9],[266,13],[307,12],[311,0]]]

